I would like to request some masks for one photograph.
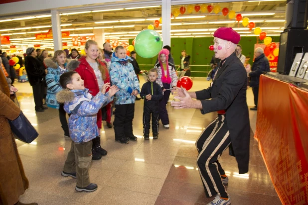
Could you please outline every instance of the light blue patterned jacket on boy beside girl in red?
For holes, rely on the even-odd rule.
[[[116,57],[115,52],[112,54],[111,65],[109,69],[110,80],[112,85],[116,85],[120,90],[115,95],[115,104],[135,103],[136,96],[131,95],[137,90],[140,93],[140,86],[134,67],[128,60]]]

